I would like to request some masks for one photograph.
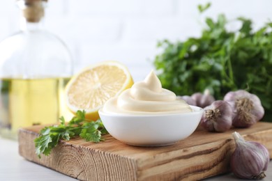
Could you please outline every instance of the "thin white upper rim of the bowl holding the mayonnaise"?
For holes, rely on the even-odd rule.
[[[202,112],[204,109],[201,107],[196,107],[196,106],[191,106],[189,105],[190,108],[192,108],[192,112],[187,112],[187,113],[152,113],[152,114],[126,114],[126,113],[105,113],[103,111],[103,107],[101,109],[98,110],[98,113],[103,114],[105,116],[121,116],[121,117],[157,117],[157,116],[188,116],[188,115],[192,115],[192,114],[197,114]]]

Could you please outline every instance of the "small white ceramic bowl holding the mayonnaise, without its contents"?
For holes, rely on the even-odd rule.
[[[138,146],[172,145],[195,131],[203,109],[190,106],[190,113],[167,115],[110,114],[100,109],[103,125],[115,139]]]

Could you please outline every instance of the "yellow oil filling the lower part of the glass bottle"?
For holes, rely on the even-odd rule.
[[[20,127],[57,123],[60,116],[69,117],[63,101],[68,78],[2,79],[0,132],[16,139]]]

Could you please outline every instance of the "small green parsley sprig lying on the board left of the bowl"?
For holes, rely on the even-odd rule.
[[[100,119],[96,121],[88,120],[85,118],[85,111],[77,111],[76,115],[66,123],[63,116],[60,118],[59,125],[52,125],[44,127],[40,130],[40,135],[34,140],[36,147],[36,154],[50,155],[52,148],[56,147],[59,139],[70,140],[75,136],[80,136],[86,141],[98,143],[104,141],[101,137],[107,134],[103,123]]]

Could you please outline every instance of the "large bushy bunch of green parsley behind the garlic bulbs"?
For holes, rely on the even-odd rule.
[[[210,4],[198,6],[203,13]],[[244,89],[257,95],[266,111],[264,120],[272,121],[272,23],[252,30],[244,17],[237,31],[228,31],[225,15],[206,17],[206,28],[199,38],[158,42],[163,51],[153,65],[164,88],[177,95],[192,95],[205,89],[222,100],[229,91]]]

